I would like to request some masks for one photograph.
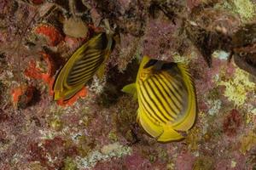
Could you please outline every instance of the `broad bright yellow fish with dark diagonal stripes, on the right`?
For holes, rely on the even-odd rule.
[[[144,56],[137,81],[123,91],[137,95],[137,121],[160,142],[183,139],[179,131],[195,122],[195,88],[185,65]]]

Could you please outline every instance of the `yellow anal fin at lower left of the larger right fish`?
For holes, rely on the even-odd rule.
[[[141,109],[138,109],[137,114],[138,121],[149,135],[157,138],[161,133],[163,133],[163,127],[157,126],[154,122],[151,122],[148,119],[148,116]]]

